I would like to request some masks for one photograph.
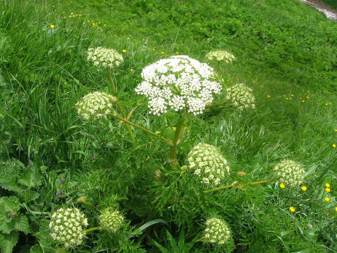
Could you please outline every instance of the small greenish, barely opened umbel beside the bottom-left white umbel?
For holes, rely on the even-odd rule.
[[[108,207],[98,217],[98,221],[101,229],[115,233],[124,224],[124,217],[118,210]]]

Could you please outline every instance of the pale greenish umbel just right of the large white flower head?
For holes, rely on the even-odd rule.
[[[255,97],[252,89],[243,83],[227,88],[226,100],[234,102],[234,105],[242,111],[245,108],[255,108]]]

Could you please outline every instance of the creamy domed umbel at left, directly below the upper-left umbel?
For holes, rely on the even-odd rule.
[[[84,119],[100,118],[105,114],[114,112],[113,102],[117,102],[115,96],[95,91],[82,97],[75,106],[77,113],[82,115]]]

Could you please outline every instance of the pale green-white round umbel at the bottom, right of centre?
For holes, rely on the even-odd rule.
[[[224,244],[231,238],[232,231],[228,224],[218,218],[210,218],[205,222],[205,242]]]

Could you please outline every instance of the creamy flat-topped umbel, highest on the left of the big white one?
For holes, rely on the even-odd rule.
[[[124,60],[123,56],[114,49],[98,47],[88,49],[88,60],[92,61],[97,67],[118,67]]]

